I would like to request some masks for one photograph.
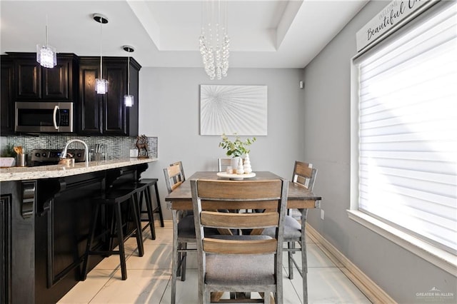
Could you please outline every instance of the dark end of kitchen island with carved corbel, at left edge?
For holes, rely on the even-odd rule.
[[[0,303],[35,303],[36,181],[0,184]]]

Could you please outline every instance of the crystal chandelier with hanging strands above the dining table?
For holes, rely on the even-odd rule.
[[[229,70],[230,38],[227,34],[227,2],[206,0],[201,14],[201,59],[209,78],[221,79]]]

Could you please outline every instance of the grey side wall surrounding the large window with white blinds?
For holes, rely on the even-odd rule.
[[[303,111],[303,159],[318,168],[314,191],[323,196],[322,221],[311,210],[316,228],[398,303],[423,303],[417,297],[436,287],[454,293],[456,278],[408,250],[348,219],[350,198],[350,67],[356,31],[388,2],[369,1],[361,12],[306,66]],[[436,298],[439,300],[439,298]]]

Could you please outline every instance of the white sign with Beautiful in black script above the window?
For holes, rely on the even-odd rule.
[[[357,51],[361,51],[373,41],[394,29],[406,17],[416,13],[418,9],[427,9],[436,0],[393,0],[378,16],[371,19],[356,34]]]

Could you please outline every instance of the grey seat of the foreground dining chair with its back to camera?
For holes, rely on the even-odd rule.
[[[273,255],[206,255],[205,283],[273,285]]]

